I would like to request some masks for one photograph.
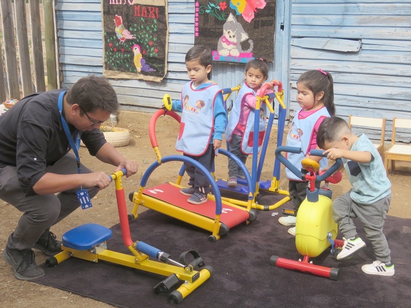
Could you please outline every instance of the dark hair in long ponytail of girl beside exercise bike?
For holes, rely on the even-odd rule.
[[[297,84],[298,83],[304,84],[307,89],[311,90],[314,98],[317,93],[324,91],[324,96],[321,101],[331,117],[335,115],[334,85],[330,73],[322,70],[310,70],[301,74],[300,78],[298,78]]]

